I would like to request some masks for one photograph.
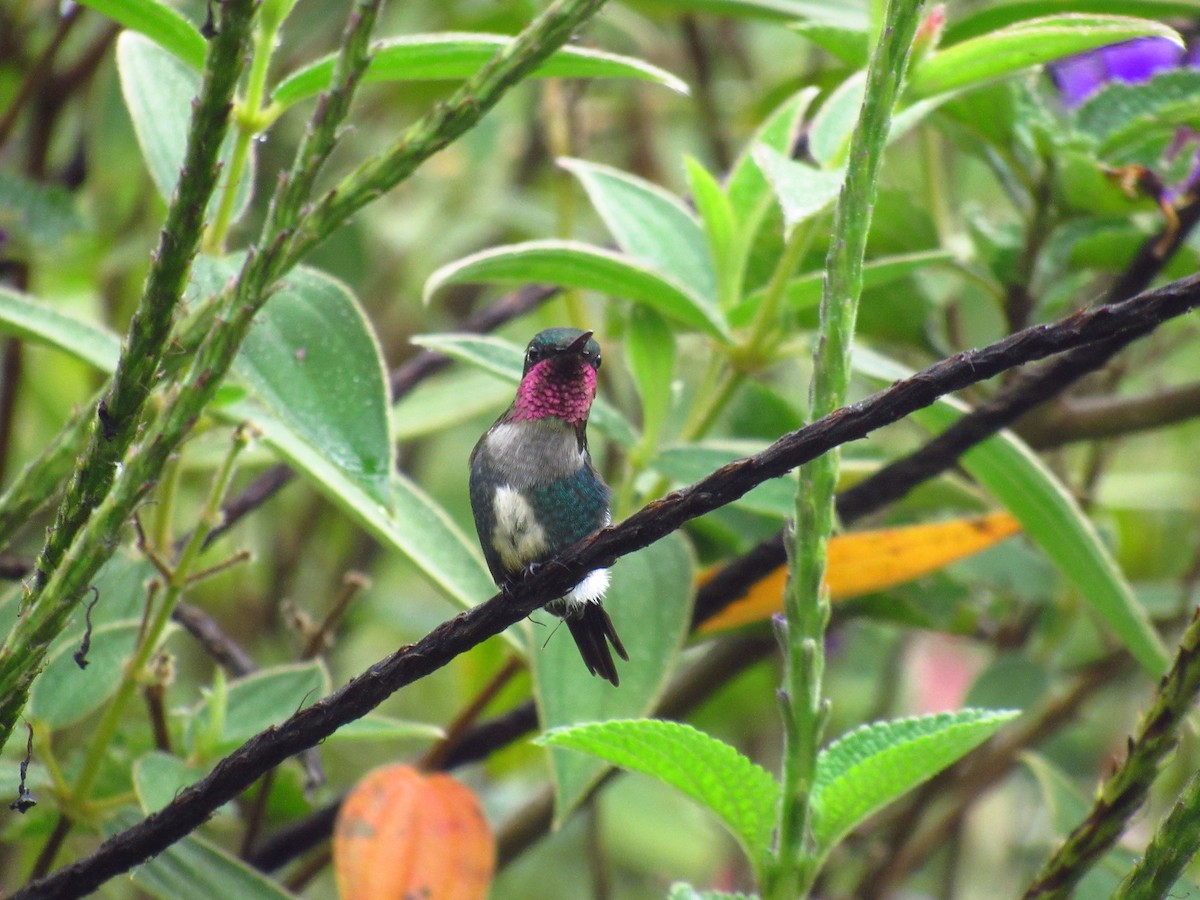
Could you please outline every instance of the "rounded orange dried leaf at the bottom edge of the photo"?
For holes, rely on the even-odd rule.
[[[461,781],[384,766],[342,803],[334,869],[342,900],[484,900],[496,840],[479,799]]]

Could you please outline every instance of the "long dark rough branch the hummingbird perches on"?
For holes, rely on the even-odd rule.
[[[721,467],[696,484],[648,504],[619,526],[586,538],[559,554],[553,564],[542,565],[526,577],[508,595],[498,594],[460,613],[280,726],[254,736],[162,810],[104,841],[91,856],[25,886],[13,895],[14,900],[95,890],[108,878],[198,828],[221,804],[268,769],[324,740],[342,725],[366,715],[398,689],[437,671],[562,596],[587,572],[612,565],[618,557],[641,550],[685,522],[732,503],[767,479],[899,421],[944,394],[1080,344],[1133,340],[1198,304],[1200,276],[1192,276],[1121,304],[1074,313],[1052,325],[1036,325],[983,349],[942,360],[865,401],[785,436],[755,456]]]

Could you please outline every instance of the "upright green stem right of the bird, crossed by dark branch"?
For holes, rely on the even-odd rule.
[[[821,325],[814,350],[809,414],[817,420],[841,407],[850,388],[850,349],[863,289],[863,257],[900,82],[916,35],[920,0],[889,0],[884,26],[866,74],[866,94],[851,137],[846,172],[834,211],[826,259]],[[768,900],[805,896],[828,847],[811,834],[810,803],[817,754],[828,715],[822,698],[824,630],[829,600],[824,588],[826,550],[834,526],[833,496],[838,454],[829,452],[800,467],[796,494],[796,529],[791,578],[782,628],[784,798],[776,856],[763,895]]]

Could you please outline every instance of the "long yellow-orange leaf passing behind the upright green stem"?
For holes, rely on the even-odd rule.
[[[934,524],[838,535],[829,541],[826,583],[833,600],[883,590],[986,550],[1021,527],[1007,512]],[[745,595],[710,618],[700,631],[722,631],[762,622],[784,608],[787,566],[756,581]]]

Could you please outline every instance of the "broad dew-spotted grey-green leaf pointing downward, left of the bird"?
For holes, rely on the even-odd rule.
[[[240,262],[198,259],[193,280],[217,293]],[[340,281],[299,268],[280,282],[233,371],[282,425],[391,509],[395,445],[388,372],[371,323]]]

